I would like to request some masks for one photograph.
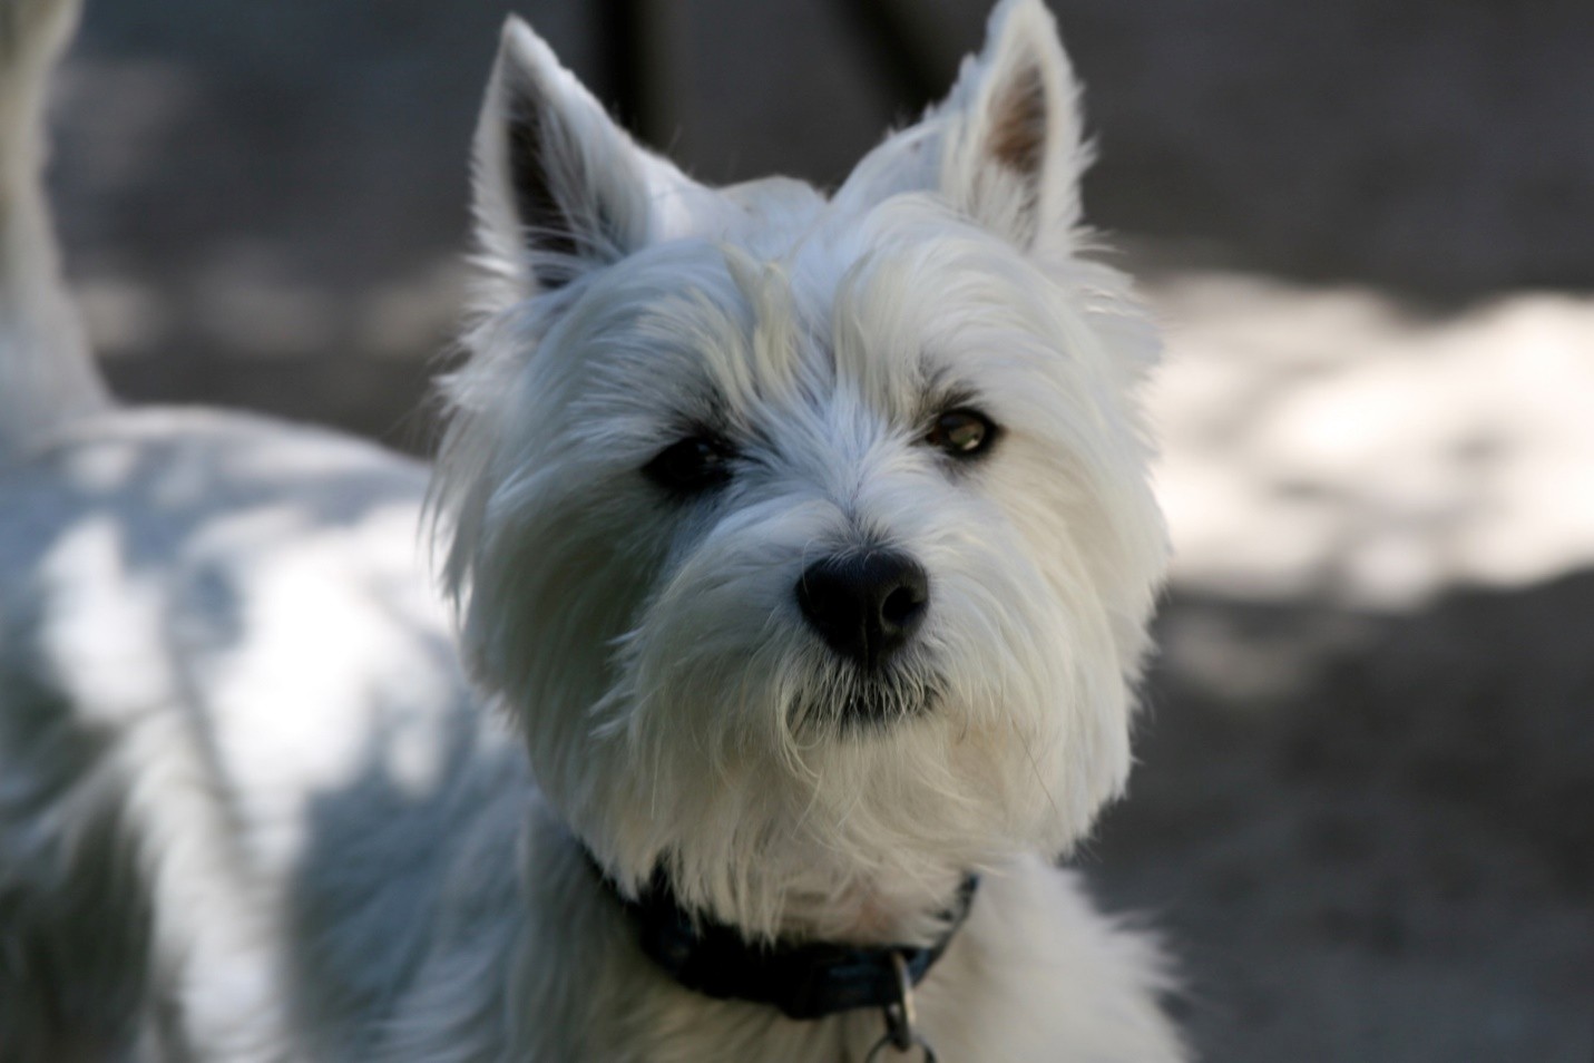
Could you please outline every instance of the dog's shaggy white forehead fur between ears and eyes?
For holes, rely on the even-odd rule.
[[[1019,255],[932,198],[859,209],[765,178],[692,215],[583,300],[585,324],[564,338],[609,351],[617,371],[579,379],[622,392],[655,379],[697,421],[842,397],[894,422],[939,392],[977,390],[960,371],[969,336],[1025,328]]]

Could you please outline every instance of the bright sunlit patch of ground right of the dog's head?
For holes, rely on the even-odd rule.
[[[1181,585],[1412,606],[1594,559],[1594,300],[1427,314],[1237,274],[1151,296]]]

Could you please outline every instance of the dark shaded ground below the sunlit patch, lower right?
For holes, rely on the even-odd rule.
[[[1167,931],[1205,1058],[1591,1058],[1589,617],[1594,572],[1404,615],[1173,596],[1082,862]]]

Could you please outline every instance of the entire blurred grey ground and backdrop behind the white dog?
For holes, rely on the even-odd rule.
[[[708,180],[838,180],[985,0],[518,0]],[[502,0],[89,0],[53,182],[116,390],[424,453]],[[1203,1055],[1594,1058],[1594,6],[1055,0],[1167,325],[1178,548],[1079,862]]]

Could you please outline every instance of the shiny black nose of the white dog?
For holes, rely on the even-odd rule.
[[[899,553],[818,561],[797,580],[797,604],[837,653],[878,668],[925,618],[929,577]]]

